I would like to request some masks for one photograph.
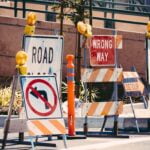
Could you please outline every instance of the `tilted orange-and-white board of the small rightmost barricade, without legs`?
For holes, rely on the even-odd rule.
[[[126,96],[141,96],[144,93],[144,84],[139,79],[137,72],[123,72],[123,86]]]

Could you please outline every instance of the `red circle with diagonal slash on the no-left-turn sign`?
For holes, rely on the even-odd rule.
[[[54,104],[51,105],[33,86],[36,84],[36,83],[41,83],[41,84],[45,84],[46,86],[48,86],[48,88],[52,91],[52,94],[54,96]],[[40,112],[38,110],[36,110],[36,108],[34,108],[30,102],[30,99],[29,99],[29,94],[30,94],[30,91],[32,91],[50,110],[48,110],[47,112]],[[57,95],[56,95],[56,92],[54,90],[54,88],[48,83],[46,82],[45,80],[42,80],[42,79],[35,79],[35,80],[32,80],[27,88],[26,88],[26,92],[25,92],[25,95],[26,95],[26,101],[27,101],[27,104],[29,105],[30,109],[37,115],[39,116],[49,116],[50,114],[52,114],[55,109],[56,109],[56,106],[57,106]]]

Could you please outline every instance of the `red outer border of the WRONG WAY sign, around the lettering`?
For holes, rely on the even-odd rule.
[[[94,38],[94,37],[112,37],[113,38],[113,53],[114,53],[114,57],[113,57],[113,63],[108,63],[108,64],[98,64],[98,63],[93,63],[92,62],[92,52],[91,52],[91,49],[92,49],[92,39]],[[92,66],[92,67],[108,67],[108,66],[110,66],[110,67],[115,67],[115,65],[116,65],[116,63],[117,63],[117,61],[116,61],[116,58],[117,58],[117,52],[116,52],[116,42],[115,42],[115,36],[114,35],[93,35],[92,37],[91,37],[91,40],[90,40],[90,47],[89,47],[89,54],[90,54],[90,65]]]

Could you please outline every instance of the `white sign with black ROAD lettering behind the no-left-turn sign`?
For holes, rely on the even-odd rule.
[[[63,37],[35,35],[24,36],[23,48],[28,54],[28,74],[48,75],[55,73],[60,85]]]

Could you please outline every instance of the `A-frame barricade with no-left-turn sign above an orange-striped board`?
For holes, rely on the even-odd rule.
[[[27,115],[27,130],[33,138],[62,135],[66,145],[66,127],[58,95],[56,77],[21,76],[21,87]]]

